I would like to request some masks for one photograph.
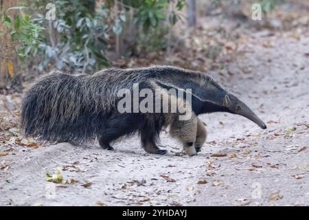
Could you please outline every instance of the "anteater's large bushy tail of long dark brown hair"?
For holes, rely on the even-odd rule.
[[[111,101],[106,103],[109,94],[98,87],[98,80],[62,73],[39,80],[23,98],[23,133],[51,142],[94,140],[102,131],[106,106],[111,106]]]

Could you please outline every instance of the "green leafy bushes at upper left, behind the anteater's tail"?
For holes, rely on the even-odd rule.
[[[49,3],[56,9],[53,21],[46,17]],[[106,50],[111,47],[113,36],[124,33],[129,11],[133,11],[133,25],[138,30],[135,45],[141,43],[140,48],[144,49],[144,45],[150,44],[155,50],[164,43],[166,30],[181,18],[176,11],[183,8],[185,0],[106,0],[100,5],[96,3],[95,0],[28,1],[25,3],[28,14],[34,14],[36,19],[30,19],[24,12],[14,18],[14,24],[6,15],[1,21],[10,29],[12,39],[20,42],[16,50],[19,57],[32,58],[38,63],[40,72],[51,68],[93,72],[109,65]],[[170,5],[174,5],[173,10]],[[25,10],[25,7],[16,9]],[[156,33],[159,33],[158,37]]]

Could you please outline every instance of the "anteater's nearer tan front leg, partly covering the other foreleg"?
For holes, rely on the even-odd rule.
[[[196,132],[197,118],[192,115],[190,120],[174,120],[170,126],[170,135],[175,137],[183,144],[183,151],[187,155],[196,155]]]

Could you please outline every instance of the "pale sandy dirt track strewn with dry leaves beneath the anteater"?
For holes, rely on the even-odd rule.
[[[150,155],[137,137],[115,144],[2,144],[1,206],[309,206],[309,34],[252,34],[238,60],[247,74],[214,76],[266,122],[201,115],[207,143],[181,154],[166,133]],[[257,83],[258,82],[258,83]],[[14,133],[14,131],[11,130]],[[45,181],[61,168],[67,184]]]

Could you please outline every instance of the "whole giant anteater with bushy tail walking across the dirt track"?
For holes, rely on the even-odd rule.
[[[148,97],[157,91],[159,108],[157,97]],[[132,93],[124,104],[124,96]],[[144,109],[139,109],[142,102]],[[170,111],[179,104],[185,107],[185,113],[179,109]],[[157,141],[161,130],[169,127],[185,153],[196,155],[206,139],[205,126],[197,116],[218,111],[242,115],[266,129],[244,102],[200,72],[170,66],[111,68],[78,76],[54,72],[38,80],[25,94],[21,128],[25,135],[49,142],[98,139],[100,146],[108,150],[113,150],[111,142],[138,133],[145,151],[164,154],[166,151],[157,147]],[[181,119],[187,113],[189,117]]]

